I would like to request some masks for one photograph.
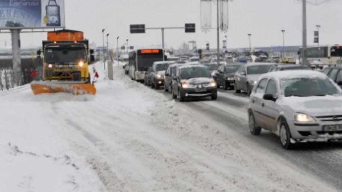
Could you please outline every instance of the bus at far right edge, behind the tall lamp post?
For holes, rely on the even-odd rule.
[[[302,63],[302,48],[299,48],[299,57]],[[310,46],[306,48],[306,57],[324,65],[342,64],[342,45]]]

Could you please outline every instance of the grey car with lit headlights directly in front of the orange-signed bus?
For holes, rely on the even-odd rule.
[[[169,65],[174,64],[173,61],[156,61],[152,65],[152,71],[149,74],[148,82],[150,82],[151,87],[156,90],[159,89],[160,86],[164,85],[164,76],[165,71],[169,67]]]

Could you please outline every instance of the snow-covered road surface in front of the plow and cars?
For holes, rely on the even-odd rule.
[[[340,167],[340,149],[284,151],[249,135],[247,98],[179,103],[122,67],[114,76],[93,97],[0,93],[0,191],[337,191],[310,163],[332,150]]]

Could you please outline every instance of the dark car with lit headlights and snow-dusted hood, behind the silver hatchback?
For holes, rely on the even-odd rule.
[[[180,66],[172,79],[172,96],[184,101],[186,97],[211,97],[216,100],[216,82],[203,65]]]

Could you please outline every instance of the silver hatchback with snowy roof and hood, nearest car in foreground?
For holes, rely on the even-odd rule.
[[[248,107],[249,129],[280,137],[291,149],[297,142],[342,140],[342,90],[325,74],[312,70],[263,74]]]

